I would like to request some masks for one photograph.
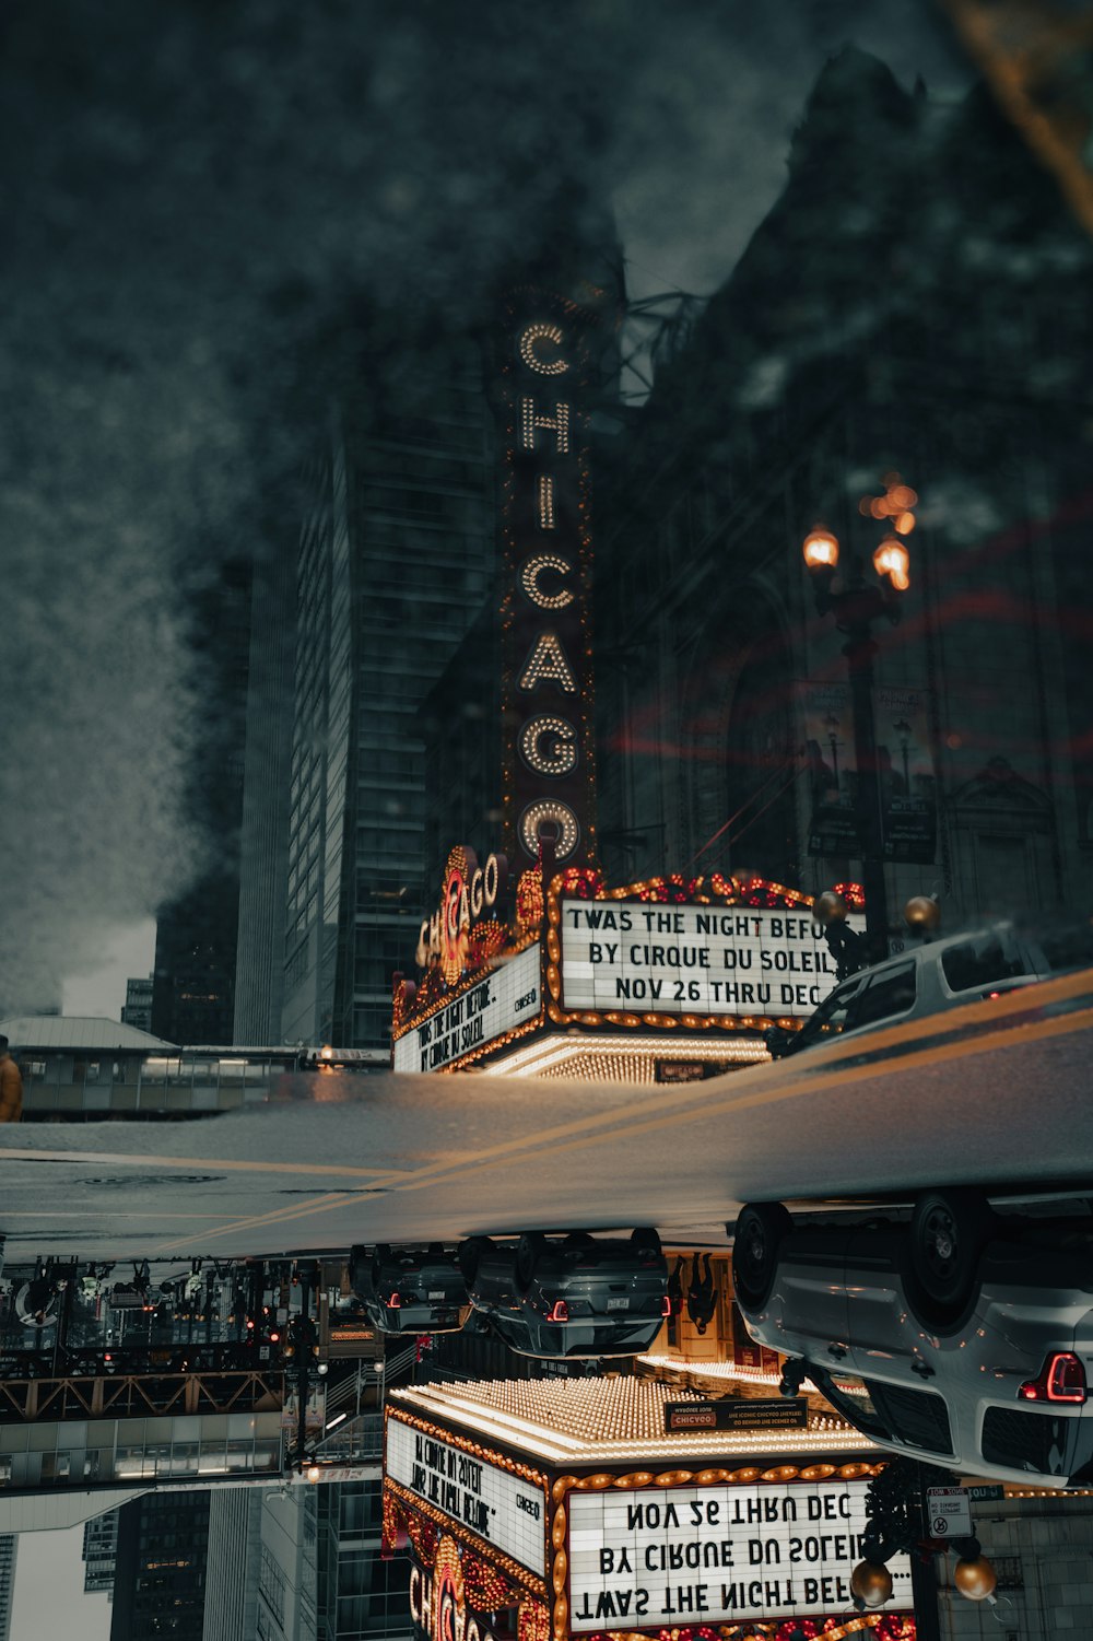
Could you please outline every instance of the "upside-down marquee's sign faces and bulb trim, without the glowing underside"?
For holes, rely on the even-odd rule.
[[[888,1562],[886,1608],[847,1620],[881,1465],[693,1470],[665,1454],[569,1474],[404,1410],[387,1410],[386,1431],[384,1547],[410,1554],[417,1641],[737,1641],[740,1625],[763,1641],[916,1634],[908,1556]]]

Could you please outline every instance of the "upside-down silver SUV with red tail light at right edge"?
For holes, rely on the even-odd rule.
[[[734,1229],[734,1227],[729,1227]],[[735,1223],[748,1332],[896,1452],[1003,1482],[1093,1483],[1093,1218],[998,1214],[931,1190],[911,1223]]]

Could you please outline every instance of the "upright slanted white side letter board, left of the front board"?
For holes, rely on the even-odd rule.
[[[394,1068],[443,1072],[453,1060],[535,1019],[540,1009],[540,947],[535,944],[484,971],[469,990],[397,1037]]]

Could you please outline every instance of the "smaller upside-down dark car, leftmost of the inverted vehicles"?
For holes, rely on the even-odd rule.
[[[468,1316],[466,1282],[455,1252],[428,1247],[354,1247],[350,1285],[381,1332],[458,1332]]]

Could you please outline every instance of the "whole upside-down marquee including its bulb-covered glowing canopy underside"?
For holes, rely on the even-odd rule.
[[[880,1449],[817,1413],[666,1433],[676,1395],[637,1378],[394,1392],[384,1552],[410,1559],[415,1641],[912,1641],[908,1556],[881,1610],[852,1610]]]

